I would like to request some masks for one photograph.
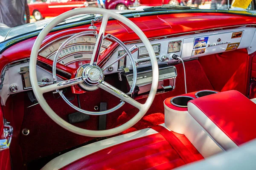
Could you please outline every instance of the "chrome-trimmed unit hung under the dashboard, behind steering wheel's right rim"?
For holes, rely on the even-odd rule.
[[[130,91],[133,82],[133,72],[121,73],[122,77],[122,90]],[[157,94],[165,93],[175,89],[175,82],[177,71],[175,66],[159,65],[159,81],[157,87]],[[152,82],[152,69],[141,68],[137,69],[137,81],[134,89],[134,98],[140,99],[147,97],[151,88]]]

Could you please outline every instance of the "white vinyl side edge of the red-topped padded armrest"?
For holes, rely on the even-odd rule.
[[[228,137],[212,120],[209,119],[196,105],[188,103],[189,114],[209,133],[209,135],[224,150],[237,148],[238,146]]]

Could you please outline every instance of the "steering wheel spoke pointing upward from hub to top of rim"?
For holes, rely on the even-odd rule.
[[[102,42],[104,40],[104,34],[105,34],[105,30],[108,24],[108,15],[103,16],[103,20],[102,20],[102,24],[100,26],[99,29],[99,34],[98,34],[98,38],[96,40],[96,44],[93,50],[93,56],[92,59],[90,61],[90,65],[97,65],[98,59],[99,59],[99,54],[100,54],[100,49],[102,47]]]

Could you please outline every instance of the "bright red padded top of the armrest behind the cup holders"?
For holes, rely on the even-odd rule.
[[[189,101],[237,145],[256,138],[256,105],[238,91],[225,91]]]

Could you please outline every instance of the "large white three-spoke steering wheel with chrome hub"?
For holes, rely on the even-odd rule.
[[[38,85],[38,80],[36,76],[36,64],[37,64],[37,57],[38,57],[38,51],[41,46],[41,43],[43,42],[44,38],[47,36],[47,34],[54,28],[58,23],[61,21],[73,17],[75,15],[79,14],[101,14],[103,16],[101,28],[99,30],[98,38],[96,40],[95,48],[93,51],[92,59],[90,61],[90,65],[84,66],[83,74],[81,77],[76,77],[74,79],[70,80],[65,80],[62,82],[56,82],[56,75],[55,75],[55,70],[53,69],[53,77],[54,77],[54,84],[52,85],[47,85],[44,87],[39,87]],[[126,26],[131,28],[137,35],[140,37],[142,42],[144,43],[145,47],[148,50],[149,57],[151,59],[151,65],[152,65],[152,72],[153,72],[153,77],[152,77],[152,85],[151,85],[151,90],[148,96],[148,99],[146,100],[145,104],[141,104],[134,99],[132,99],[130,96],[127,94],[123,93],[122,91],[119,91],[112,85],[108,84],[107,82],[104,81],[104,75],[103,71],[105,68],[99,68],[97,65],[98,58],[99,58],[99,51],[102,45],[102,41],[104,39],[105,35],[105,28],[108,23],[109,17],[112,17],[116,20],[121,21],[124,23]],[[126,47],[125,47],[126,48]],[[127,51],[127,48],[126,48]],[[127,51],[128,52],[128,51]],[[129,55],[129,54],[128,54]],[[56,61],[53,63],[53,68],[54,65],[56,65]],[[71,11],[67,11],[58,17],[54,18],[50,23],[47,24],[46,27],[41,31],[41,33],[38,35],[37,39],[35,40],[35,43],[33,45],[32,51],[31,51],[31,56],[30,56],[30,61],[29,61],[29,73],[30,73],[30,81],[32,85],[32,89],[34,91],[35,97],[38,100],[39,104],[47,113],[47,115],[58,125],[61,127],[65,128],[66,130],[69,130],[73,133],[82,135],[82,136],[90,136],[90,137],[104,137],[104,136],[111,136],[115,135],[117,133],[120,133],[133,125],[135,125],[148,111],[149,107],[151,106],[154,96],[157,91],[157,85],[158,85],[158,64],[157,64],[157,59],[155,57],[154,50],[151,46],[151,43],[149,42],[148,38],[145,36],[143,31],[140,30],[139,27],[137,27],[133,22],[128,20],[126,17],[123,17],[120,14],[117,14],[116,12],[102,9],[102,8],[79,8],[79,9],[74,9]],[[96,73],[90,75],[89,73]],[[135,71],[135,74],[137,72]],[[137,77],[137,75],[135,76]],[[118,97],[121,99],[121,103],[123,105],[124,102],[128,102],[129,104],[133,105],[134,107],[138,108],[140,111],[128,122],[125,124],[115,127],[113,129],[108,129],[108,130],[86,130],[82,129],[80,127],[76,127],[74,125],[71,125],[70,123],[66,122],[63,120],[60,116],[58,116],[52,108],[49,107],[47,104],[46,100],[44,99],[43,94],[47,93],[49,91],[57,91],[60,95],[62,94],[61,91],[58,89],[60,88],[66,88],[72,85],[77,85],[85,83],[86,85],[89,85],[90,87],[99,87],[104,89],[105,91],[108,91],[109,93],[113,94],[114,96]],[[62,94],[63,95],[63,94]],[[63,96],[62,96],[63,98]],[[67,102],[64,98],[64,101]],[[119,104],[120,105],[120,104]],[[111,111],[110,111],[111,112]],[[110,113],[109,112],[109,113]],[[86,111],[82,111],[82,113],[87,113]],[[93,113],[90,113],[93,114]],[[98,114],[99,115],[99,114]]]

